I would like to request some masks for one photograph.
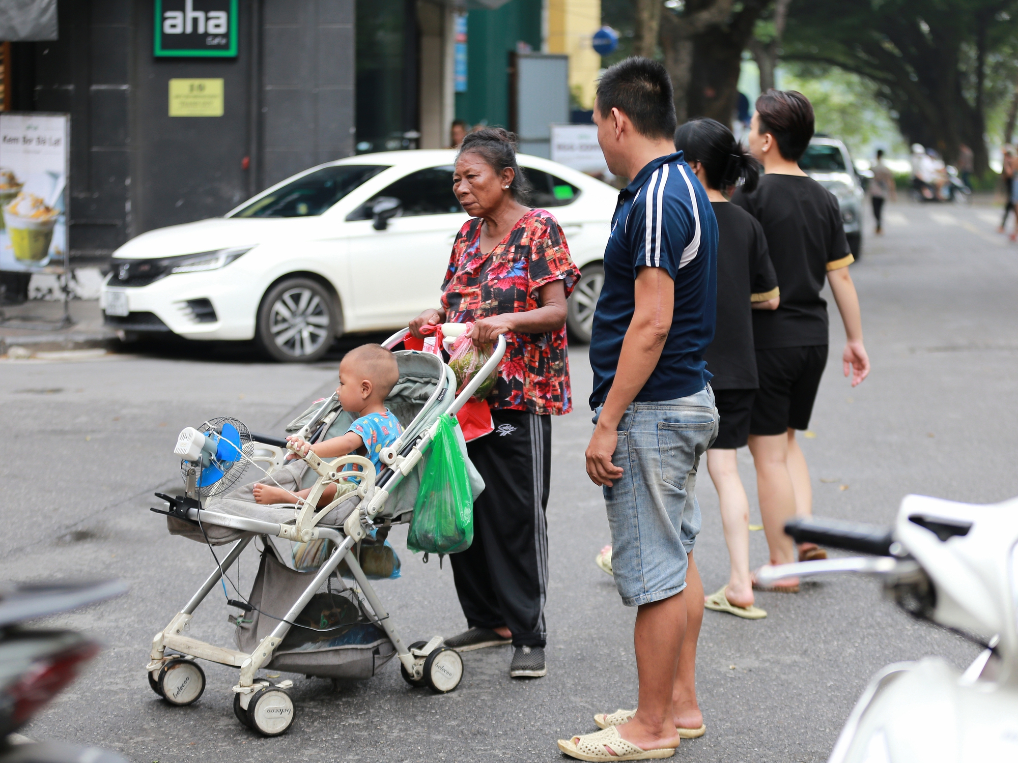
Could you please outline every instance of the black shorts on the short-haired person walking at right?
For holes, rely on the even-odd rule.
[[[827,351],[827,345],[756,351],[759,389],[753,399],[750,434],[784,434],[809,426]]]

